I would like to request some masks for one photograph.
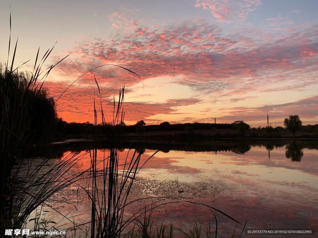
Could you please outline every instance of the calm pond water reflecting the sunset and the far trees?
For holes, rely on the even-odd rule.
[[[317,229],[317,142],[172,142],[146,163],[138,175],[131,199],[149,196],[185,197],[218,208],[241,223],[247,220],[247,228]],[[142,159],[146,160],[162,143],[150,141],[143,151]],[[122,145],[120,156],[123,160],[128,153],[128,149],[125,149],[127,146],[128,143]],[[63,159],[70,150],[81,151],[83,157],[77,166],[80,171],[90,166],[90,157],[85,155],[87,145],[84,147],[86,148],[78,146],[77,143],[52,146],[48,153]],[[102,159],[104,151],[107,153],[107,149],[98,150],[99,160]],[[63,214],[70,212],[69,216],[75,216],[75,220],[79,222],[89,220],[90,207],[86,197],[84,194],[77,195],[76,190],[77,187],[74,186],[56,195],[56,199],[66,200],[71,204],[52,201],[51,205]],[[127,213],[134,213],[145,205],[147,202],[134,204],[127,209]],[[213,214],[202,205],[170,203],[155,208],[153,214],[156,214],[157,224],[162,221],[169,224],[173,220],[176,227],[186,230],[191,228],[195,221],[203,225],[203,232],[209,220],[211,226],[215,226]],[[62,218],[57,212],[47,213],[46,216],[67,226],[68,222],[65,219],[60,221]],[[235,222],[218,213],[216,216],[219,237],[227,237],[234,230]],[[238,228],[241,229],[241,226]]]

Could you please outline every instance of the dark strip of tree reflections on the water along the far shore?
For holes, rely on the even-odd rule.
[[[230,139],[230,140],[197,140],[197,141],[172,141],[166,146],[162,147],[169,141],[163,139],[149,140],[144,149],[157,150],[160,149],[164,153],[171,150],[180,151],[232,151],[236,154],[245,154],[252,147],[259,147],[267,150],[269,156],[270,152],[275,148],[285,147],[286,157],[291,158],[292,161],[300,161],[303,156],[302,150],[304,148],[318,149],[318,143],[315,140],[301,140],[295,139],[279,139],[279,140],[264,140],[264,139]],[[92,141],[85,140],[83,142],[68,142],[63,144],[56,144],[45,147],[30,148],[24,152],[26,157],[45,157],[45,158],[61,158],[67,151],[79,153],[81,151],[88,152],[92,148]],[[110,140],[100,140],[97,144],[98,149],[109,149]],[[141,142],[143,144],[143,141]],[[123,140],[118,146],[120,152],[125,148],[135,149],[138,147],[138,152],[142,148],[138,142],[131,142],[131,140]],[[144,152],[144,151],[143,151]],[[143,153],[142,152],[142,153]]]

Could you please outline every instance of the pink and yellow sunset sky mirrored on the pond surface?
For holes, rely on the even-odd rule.
[[[142,163],[154,153],[146,150]],[[218,181],[227,185],[225,194],[213,198],[197,198],[202,202],[232,215],[241,222],[249,220],[251,228],[313,228],[317,227],[317,168],[318,150],[303,149],[301,162],[285,157],[285,147],[268,151],[252,147],[244,155],[233,152],[189,152],[170,150],[158,152],[141,170],[141,176],[156,180],[180,182]],[[120,152],[121,162],[128,150]],[[129,156],[132,155],[129,152]],[[98,151],[101,161],[103,151]],[[105,152],[107,155],[107,151]],[[129,158],[128,156],[128,158]],[[89,154],[81,159],[87,169]],[[141,164],[142,164],[141,163]],[[127,211],[133,212],[135,207]],[[194,220],[213,223],[213,216],[204,207],[185,203],[169,204],[160,208],[156,219],[167,223],[171,219],[179,227],[189,228]],[[186,210],[186,213],[185,213]],[[221,230],[233,230],[235,223],[218,215]],[[291,236],[292,237],[292,236]],[[305,236],[304,236],[305,237]]]

